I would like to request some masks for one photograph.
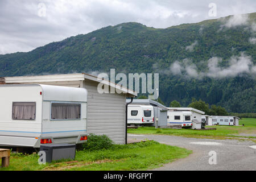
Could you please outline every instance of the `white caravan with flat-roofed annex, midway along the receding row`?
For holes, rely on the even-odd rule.
[[[203,111],[192,107],[168,107],[167,121],[169,125],[181,125],[182,127],[191,127],[192,119],[201,122]]]

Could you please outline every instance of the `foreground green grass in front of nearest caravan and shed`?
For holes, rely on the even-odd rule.
[[[11,155],[9,168],[1,170],[146,170],[185,158],[192,151],[185,148],[168,146],[154,141],[127,145],[114,145],[109,150],[77,151],[77,162],[65,161],[39,165],[38,155]]]

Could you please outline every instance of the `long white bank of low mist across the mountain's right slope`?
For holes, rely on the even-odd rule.
[[[165,75],[180,75],[187,78],[198,78],[203,77],[210,78],[225,78],[225,77],[236,77],[242,73],[249,75],[256,74],[256,65],[251,61],[251,57],[245,53],[241,53],[239,56],[232,56],[228,60],[226,67],[221,67],[220,63],[223,60],[220,57],[212,57],[207,61],[207,68],[204,71],[200,71],[196,64],[192,63],[191,59],[184,59],[181,61],[175,61],[170,65],[168,69],[160,70],[159,73]]]

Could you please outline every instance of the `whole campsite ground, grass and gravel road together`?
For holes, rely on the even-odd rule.
[[[146,142],[116,145],[109,150],[77,151],[75,161],[62,160],[46,165],[38,164],[37,154],[11,154],[10,167],[0,168],[0,171],[256,170],[256,119],[242,119],[242,124],[245,126],[214,126],[217,130],[206,131],[129,129],[129,140]],[[208,162],[210,151],[217,154],[216,165]]]

